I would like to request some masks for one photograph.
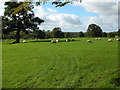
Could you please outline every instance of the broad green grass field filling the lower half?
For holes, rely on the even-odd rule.
[[[93,43],[87,43],[86,40]],[[118,42],[107,38],[2,45],[3,88],[118,88]]]

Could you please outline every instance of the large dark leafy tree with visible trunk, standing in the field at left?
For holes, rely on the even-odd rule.
[[[2,31],[9,33],[11,31],[16,31],[16,41],[19,43],[20,32],[26,30],[36,30],[38,25],[40,25],[44,20],[35,17],[32,9],[34,8],[31,3],[27,7],[23,7],[17,14],[14,14],[14,9],[18,6],[23,5],[24,2],[5,2],[5,11],[2,18]]]

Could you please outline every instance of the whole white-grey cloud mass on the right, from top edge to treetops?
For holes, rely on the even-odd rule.
[[[95,0],[93,0],[95,1]],[[105,0],[106,1],[106,0]],[[84,17],[84,26],[91,23],[99,25],[103,31],[117,31],[118,29],[118,2],[86,2],[74,3],[74,6],[81,6],[87,12],[96,13],[97,16]]]

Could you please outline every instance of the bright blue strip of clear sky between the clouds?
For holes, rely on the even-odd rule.
[[[83,7],[79,6],[73,6],[71,4],[68,4],[64,7],[55,7],[55,5],[52,5],[50,2],[47,4],[41,4],[42,7],[46,8],[52,8],[57,10],[59,13],[67,13],[67,14],[74,14],[78,15],[80,17],[83,16],[97,16],[98,14],[87,12]]]

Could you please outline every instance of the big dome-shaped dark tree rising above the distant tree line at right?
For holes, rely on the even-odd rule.
[[[87,29],[87,37],[101,37],[102,29],[96,24],[90,24]]]

